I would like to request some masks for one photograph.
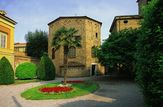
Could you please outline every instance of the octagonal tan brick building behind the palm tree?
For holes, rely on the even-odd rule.
[[[54,53],[51,43],[54,32],[63,26],[77,29],[75,37],[81,38],[82,45],[80,48],[69,48],[67,75],[73,77],[104,74],[103,67],[92,53],[93,48],[101,44],[101,22],[87,16],[73,16],[59,17],[48,25],[48,54],[56,66],[57,75],[63,76],[63,47]]]

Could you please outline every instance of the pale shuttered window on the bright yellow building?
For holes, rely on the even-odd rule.
[[[7,44],[7,34],[0,32],[0,48],[6,48]]]

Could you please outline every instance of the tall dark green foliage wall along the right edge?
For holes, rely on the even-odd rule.
[[[163,105],[163,2],[152,0],[143,8],[144,20],[137,42],[136,80],[148,107]]]

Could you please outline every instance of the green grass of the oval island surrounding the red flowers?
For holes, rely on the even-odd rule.
[[[46,85],[37,86],[31,89],[26,90],[21,93],[21,96],[25,99],[30,100],[45,100],[45,99],[68,99],[74,98],[77,96],[83,96],[91,92],[96,91],[99,86],[96,83],[85,82],[85,83],[72,83],[73,90],[65,93],[43,93],[39,91],[42,87],[53,87],[57,86],[60,83],[49,83]]]

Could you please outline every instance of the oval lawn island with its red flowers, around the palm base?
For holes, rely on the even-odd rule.
[[[90,81],[68,81],[66,86],[61,83],[37,86],[21,93],[21,96],[30,100],[68,99],[89,94],[99,88],[98,84]]]

